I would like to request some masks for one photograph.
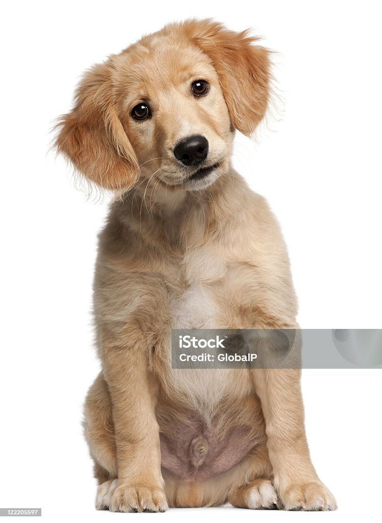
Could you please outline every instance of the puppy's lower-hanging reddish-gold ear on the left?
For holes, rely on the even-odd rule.
[[[85,73],[74,108],[56,128],[58,152],[98,186],[123,190],[138,178],[137,157],[115,109],[108,62]]]

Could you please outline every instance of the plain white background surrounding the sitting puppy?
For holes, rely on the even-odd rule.
[[[285,111],[234,164],[282,224],[302,327],[381,325],[380,27],[376,2],[17,2],[2,22],[0,506],[46,521],[142,517],[94,509],[81,408],[98,362],[91,286],[107,200],[87,201],[47,154],[81,73],[143,33],[189,16],[253,27],[278,51]],[[380,370],[306,370],[313,462],[339,510],[233,508],[158,518],[348,521],[380,517]]]

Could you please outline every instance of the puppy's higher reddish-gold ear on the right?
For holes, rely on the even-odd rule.
[[[233,126],[249,135],[262,120],[269,98],[269,51],[252,43],[248,29],[234,32],[211,19],[183,22],[190,40],[214,65]]]

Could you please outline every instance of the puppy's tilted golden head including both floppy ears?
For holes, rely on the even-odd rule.
[[[61,117],[58,151],[98,186],[138,178],[172,190],[227,170],[234,129],[249,135],[269,93],[266,49],[212,20],[165,26],[85,73]]]

